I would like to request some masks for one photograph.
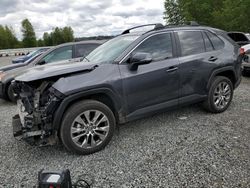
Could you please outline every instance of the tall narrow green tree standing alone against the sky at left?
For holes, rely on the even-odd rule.
[[[36,46],[36,34],[34,28],[28,19],[22,21],[22,33],[23,33],[23,46],[35,47]]]

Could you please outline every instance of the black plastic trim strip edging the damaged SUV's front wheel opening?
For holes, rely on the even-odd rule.
[[[99,89],[91,89],[87,90],[84,92],[79,92],[73,95],[70,95],[62,100],[60,103],[59,107],[57,108],[56,112],[54,113],[54,118],[53,118],[53,129],[54,130],[59,130],[61,122],[62,122],[62,117],[66,109],[72,104],[72,102],[78,101],[81,98],[90,96],[90,95],[107,95],[110,97],[114,104],[115,111],[118,114],[118,121],[123,122],[125,121],[125,116],[123,115],[123,110],[122,110],[122,104],[120,104],[119,101],[119,96],[116,95],[111,89],[108,88],[99,88]]]

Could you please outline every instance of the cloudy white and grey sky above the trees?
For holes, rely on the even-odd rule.
[[[37,38],[55,27],[71,26],[75,37],[116,35],[132,26],[164,23],[164,0],[0,0],[0,24],[22,38],[28,18]]]

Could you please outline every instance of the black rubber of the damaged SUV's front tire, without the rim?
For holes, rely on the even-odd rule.
[[[92,148],[83,148],[83,147],[80,147],[79,145],[77,145],[77,143],[75,143],[73,141],[71,130],[72,130],[72,125],[74,123],[76,123],[76,121],[75,121],[76,118],[79,117],[81,114],[83,114],[83,112],[86,112],[89,110],[90,111],[96,110],[98,112],[101,112],[103,115],[105,115],[107,120],[108,120],[107,122],[109,123],[109,130],[107,131],[107,134],[106,134],[104,140],[99,145],[92,147]],[[89,115],[89,119],[90,119],[90,115]],[[92,120],[93,119],[94,118],[92,118]],[[66,111],[64,118],[63,118],[63,121],[62,121],[61,128],[60,128],[60,137],[61,137],[63,145],[69,151],[72,151],[72,152],[74,152],[76,154],[80,154],[80,155],[88,155],[88,154],[95,153],[95,152],[102,150],[110,142],[110,140],[112,139],[112,136],[114,134],[114,131],[115,131],[115,124],[116,124],[116,121],[115,121],[114,114],[108,106],[106,106],[105,104],[103,104],[99,101],[84,100],[84,101],[80,101],[80,102],[73,104]],[[85,126],[83,126],[83,127],[85,127]],[[80,134],[82,134],[82,133],[79,133],[79,135]],[[87,135],[85,135],[85,136],[87,137]],[[90,137],[94,139],[93,135],[90,137],[88,136],[87,138],[85,136],[83,136],[83,140],[89,140]],[[92,141],[90,141],[90,142],[92,142]]]

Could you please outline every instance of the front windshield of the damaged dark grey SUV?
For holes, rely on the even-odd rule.
[[[136,35],[116,37],[96,48],[85,60],[93,63],[112,63],[138,37]]]

